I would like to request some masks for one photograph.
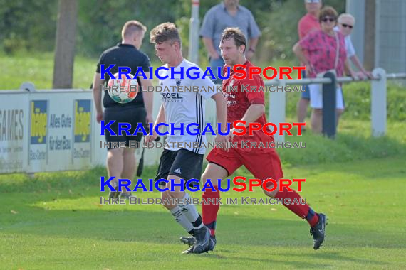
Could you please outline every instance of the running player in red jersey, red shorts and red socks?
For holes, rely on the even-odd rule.
[[[233,78],[234,65],[242,64],[246,65],[246,67],[252,66],[245,58],[245,45],[246,38],[239,28],[226,28],[224,30],[220,49],[224,62],[226,63],[224,70],[230,67],[231,73],[229,78],[223,81],[222,85],[223,93],[227,97],[227,122],[233,123],[236,120],[242,120],[246,121],[245,126],[248,126],[251,122],[257,122],[264,126],[264,124],[266,124],[264,92],[241,91],[243,88],[242,85],[256,86],[258,90],[259,87],[264,87],[264,80],[262,80],[260,75],[254,75],[250,80],[248,68],[246,68],[247,76],[245,79],[237,80]],[[231,86],[237,87],[237,90],[230,92],[229,89]],[[247,88],[250,89],[250,87]],[[251,141],[251,144],[252,142],[256,142],[257,145],[259,142],[269,144],[274,141],[274,136],[266,135],[261,130],[254,131],[253,136],[249,136],[248,132],[242,136],[233,136],[233,131],[234,129],[231,129],[229,139],[230,141],[237,142],[238,146],[241,146],[240,141],[243,140]],[[202,175],[203,182],[205,182],[206,179],[227,178],[227,176],[234,173],[234,171],[242,165],[244,165],[255,178],[261,180],[272,178],[279,182],[279,179],[283,178],[281,161],[274,148],[214,148],[207,156],[207,161],[209,161],[209,164]],[[212,181],[213,184],[215,182],[216,181]],[[202,197],[206,201],[220,197],[217,185],[214,185],[214,188],[216,189],[215,191],[211,188],[207,188],[204,191]],[[267,188],[273,188],[273,184],[267,183]],[[264,193],[271,198],[280,200],[290,198],[291,201],[296,199],[302,202],[301,196],[298,195],[296,191],[288,191],[286,188],[283,188],[281,191],[279,191],[279,188],[276,188],[273,192],[264,190]],[[283,205],[302,219],[307,220],[311,227],[310,232],[314,240],[313,248],[318,249],[324,241],[326,215],[314,212],[307,204],[285,204],[285,200],[283,200]],[[219,205],[204,203],[202,205],[203,222],[204,225],[209,227],[212,236],[207,251],[213,250],[216,244],[215,229],[218,211]],[[181,242],[193,244],[194,239],[192,237],[181,237]]]

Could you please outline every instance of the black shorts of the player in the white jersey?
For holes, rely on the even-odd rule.
[[[186,149],[170,151],[165,149],[160,158],[157,177],[167,179],[168,175],[176,175],[184,179],[186,183],[189,179],[200,179],[202,175],[203,156],[199,153],[193,153]],[[164,183],[162,182],[163,185]]]

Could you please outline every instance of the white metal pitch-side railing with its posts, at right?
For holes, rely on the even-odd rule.
[[[387,80],[406,79],[406,73],[386,74],[382,68],[375,68],[372,72],[373,79],[365,79],[371,82],[371,127],[372,136],[384,136],[386,134],[386,94]],[[301,80],[268,80],[266,86],[278,85],[323,85],[323,134],[334,138],[335,130],[335,83],[359,82],[352,77],[335,77],[332,72],[327,72],[323,78]],[[271,92],[269,95],[269,116],[272,123],[281,123],[286,118],[286,92]],[[284,136],[274,135],[276,141],[284,141]]]

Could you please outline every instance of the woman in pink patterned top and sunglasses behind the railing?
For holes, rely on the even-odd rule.
[[[352,77],[355,73],[351,70],[345,50],[344,36],[341,33],[334,31],[334,26],[337,24],[337,11],[330,6],[321,9],[319,21],[321,30],[313,31],[301,41],[298,41],[293,46],[293,52],[306,65],[306,73],[308,77],[314,78],[317,73],[335,69],[337,77],[344,75],[344,69],[347,70]],[[337,49],[338,58],[337,58]],[[321,85],[311,84],[308,86],[311,95],[311,129],[316,132],[321,132],[323,99]],[[340,114],[343,113],[343,93],[340,85],[336,91],[337,100],[337,124]]]

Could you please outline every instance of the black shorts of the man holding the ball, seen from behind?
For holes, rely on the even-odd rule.
[[[105,141],[107,142],[125,142],[125,146],[129,146],[129,141],[137,141],[139,143],[142,139],[142,133],[138,132],[135,136],[134,131],[137,129],[137,124],[142,123],[142,126],[146,128],[145,119],[147,117],[147,111],[145,107],[108,107],[105,108],[103,113],[103,120],[105,124],[109,121],[114,120],[115,122],[111,124],[110,129],[117,134],[116,136],[111,135],[108,130],[105,130]],[[118,123],[129,123],[131,129],[129,129],[131,135],[127,135],[125,131],[121,131],[118,134]],[[147,131],[147,129],[145,129]],[[108,148],[110,150],[110,148]]]

